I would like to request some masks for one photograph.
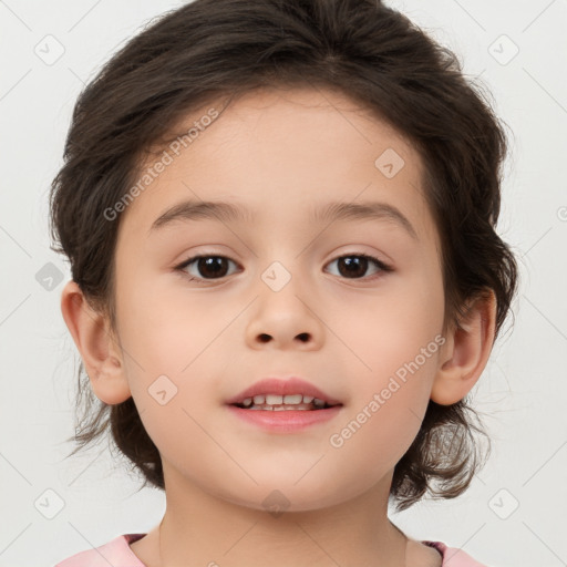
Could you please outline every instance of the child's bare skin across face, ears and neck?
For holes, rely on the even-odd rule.
[[[405,162],[392,178],[374,165],[386,148]],[[228,107],[123,214],[117,329],[89,307],[76,284],[66,285],[63,317],[95,394],[110,404],[132,395],[162,456],[162,561],[157,526],[131,546],[145,565],[255,567],[267,558],[274,567],[441,565],[437,551],[389,520],[390,484],[429,400],[454,403],[480,378],[494,340],[495,301],[477,301],[462,329],[443,332],[440,240],[422,172],[420,155],[398,132],[339,93],[256,91]],[[244,204],[257,217],[177,220],[150,231],[187,198]],[[310,207],[332,200],[395,206],[416,238],[388,219],[308,220]],[[235,264],[220,279],[205,279],[196,264],[185,276],[175,270],[198,254]],[[360,254],[393,271],[369,264],[349,278],[336,260]],[[261,279],[274,261],[291,276],[277,292]],[[189,271],[204,281],[189,281]],[[330,436],[441,334],[444,344],[333,447]],[[148,393],[163,374],[177,388],[165,405]],[[287,374],[340,400],[338,416],[281,434],[227,410],[229,396],[260,378]],[[289,501],[278,517],[262,505],[275,489]]]

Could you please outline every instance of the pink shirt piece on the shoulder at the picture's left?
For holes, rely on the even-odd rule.
[[[145,567],[130,548],[131,543],[143,536],[145,534],[123,534],[107,544],[68,557],[54,567]]]

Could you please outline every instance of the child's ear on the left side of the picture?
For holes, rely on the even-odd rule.
[[[61,312],[96,398],[110,405],[127,400],[132,393],[124,374],[123,355],[110,332],[109,321],[91,308],[73,280],[63,288]]]

